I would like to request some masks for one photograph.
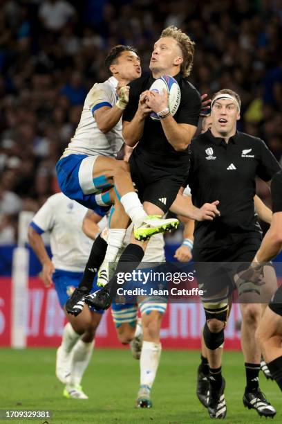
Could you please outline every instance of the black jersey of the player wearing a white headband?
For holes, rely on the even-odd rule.
[[[261,238],[254,213],[255,177],[270,181],[280,170],[265,143],[236,132],[228,143],[209,130],[190,145],[189,177],[195,206],[219,200],[220,217],[196,222],[196,247],[224,247],[244,238]]]

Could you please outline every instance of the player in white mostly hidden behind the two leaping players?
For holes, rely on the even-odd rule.
[[[191,259],[191,245],[193,245],[194,220],[178,216],[184,223],[183,242],[176,250],[175,257],[180,262]],[[88,211],[85,220],[96,222],[93,211]],[[91,225],[85,226],[87,236],[91,236]],[[124,248],[131,236],[132,224],[126,231]],[[106,240],[106,229],[102,232]],[[148,243],[142,263],[163,263],[164,238],[162,234],[153,236]],[[135,359],[140,360],[140,389],[136,399],[136,407],[151,408],[151,389],[156,378],[162,345],[160,342],[160,327],[162,317],[167,309],[166,299],[160,297],[146,297],[138,303],[112,303],[111,313],[117,330],[118,339],[122,344],[129,344]],[[138,318],[140,311],[141,319]]]

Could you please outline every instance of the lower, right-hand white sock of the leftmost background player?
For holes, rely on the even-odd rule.
[[[84,371],[91,360],[93,346],[93,342],[85,343],[80,339],[73,348],[69,386],[80,385]]]

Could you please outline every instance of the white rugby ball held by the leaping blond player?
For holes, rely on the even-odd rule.
[[[158,78],[150,87],[150,91],[156,91],[162,94],[162,90],[165,89],[169,93],[169,112],[171,116],[176,114],[177,109],[180,105],[181,92],[178,82],[169,75],[163,75]],[[155,112],[151,112],[151,118],[155,121],[160,121],[160,118]]]

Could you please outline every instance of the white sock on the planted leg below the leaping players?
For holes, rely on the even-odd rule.
[[[151,389],[156,378],[162,344],[144,341],[140,356],[140,386]]]

